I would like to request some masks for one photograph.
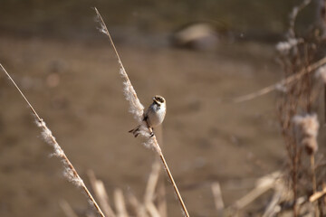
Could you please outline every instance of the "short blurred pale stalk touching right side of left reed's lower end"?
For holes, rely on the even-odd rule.
[[[116,214],[110,207],[109,195],[105,190],[103,182],[96,178],[92,170],[88,171],[87,175],[89,176],[91,182],[91,188],[93,189],[96,198],[99,200],[105,215],[108,217],[116,217]]]

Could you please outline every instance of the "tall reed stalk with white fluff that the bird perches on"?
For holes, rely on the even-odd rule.
[[[101,32],[102,33],[105,33],[108,37],[109,37],[109,40],[110,40],[110,44],[112,45],[113,47],[113,50],[118,58],[118,63],[120,65],[120,76],[122,77],[122,79],[124,80],[123,84],[124,84],[124,94],[125,94],[125,97],[126,99],[129,101],[129,111],[130,113],[132,113],[134,115],[134,118],[141,124],[142,122],[142,119],[143,119],[143,113],[144,113],[144,107],[142,106],[142,104],[140,103],[139,101],[139,98],[137,97],[137,93],[136,91],[134,90],[134,88],[132,87],[131,85],[131,82],[129,80],[129,77],[128,77],[128,74],[127,72],[125,71],[124,67],[123,67],[123,64],[122,64],[122,61],[120,60],[120,55],[114,45],[114,42],[112,41],[112,38],[110,36],[110,33],[108,31],[108,28],[106,26],[106,24],[104,23],[102,17],[101,17],[101,14],[99,13],[99,11],[97,10],[97,8],[94,8],[95,9],[95,12],[100,20],[100,24],[101,24]],[[187,212],[187,208],[186,208],[186,205],[185,203],[183,202],[182,200],[182,197],[181,197],[181,194],[179,193],[178,189],[177,189],[177,184],[175,183],[174,179],[173,179],[173,176],[168,168],[168,164],[167,164],[167,161],[165,159],[165,157],[163,156],[163,153],[161,151],[161,148],[160,146],[158,145],[158,140],[155,136],[153,137],[149,137],[150,136],[150,133],[151,133],[151,129],[148,127],[142,127],[140,129],[140,134],[142,136],[145,136],[145,137],[148,137],[148,141],[147,143],[145,144],[146,146],[149,146],[149,147],[152,147],[158,154],[159,158],[161,159],[163,165],[164,165],[164,168],[168,174],[168,178],[170,179],[171,183],[173,184],[173,188],[175,190],[175,192],[177,193],[177,199],[181,205],[181,208],[182,208],[182,211],[184,212],[184,214],[188,217],[189,214]]]

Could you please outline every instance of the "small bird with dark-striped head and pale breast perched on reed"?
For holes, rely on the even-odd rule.
[[[150,129],[150,137],[154,136],[153,127],[160,125],[166,115],[167,106],[166,100],[156,95],[153,97],[153,103],[149,106],[149,109],[144,113],[143,121],[147,124],[147,127]],[[132,133],[134,137],[139,136],[139,126],[129,130],[129,133]]]

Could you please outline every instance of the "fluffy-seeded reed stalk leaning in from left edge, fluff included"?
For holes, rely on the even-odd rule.
[[[86,185],[83,183],[81,176],[77,173],[77,171],[73,167],[71,161],[64,154],[62,147],[58,144],[55,137],[53,137],[53,133],[51,132],[50,128],[46,127],[46,124],[43,121],[43,118],[39,117],[39,115],[36,113],[34,107],[31,105],[31,103],[28,101],[28,99],[24,96],[24,93],[22,92],[22,90],[19,89],[17,84],[14,82],[14,80],[9,75],[9,73],[5,70],[5,68],[3,67],[2,64],[0,64],[0,67],[2,68],[3,71],[5,71],[6,76],[9,78],[9,80],[12,81],[16,90],[19,91],[19,93],[21,94],[21,96],[23,97],[25,102],[27,103],[28,107],[32,110],[34,117],[36,118],[37,126],[41,127],[43,130],[42,136],[43,136],[45,142],[47,142],[49,145],[53,146],[53,149],[54,149],[53,156],[58,156],[59,158],[62,159],[62,163],[63,163],[64,169],[65,169],[64,175],[66,176],[66,178],[73,184],[76,184],[76,186],[82,187],[82,190],[86,193],[87,197],[90,199],[91,204],[95,207],[97,212],[99,212],[102,217],[105,217],[105,215],[101,211],[100,206],[98,205],[98,203],[96,203],[96,201],[93,198],[93,196],[91,195],[90,191],[88,190]]]

